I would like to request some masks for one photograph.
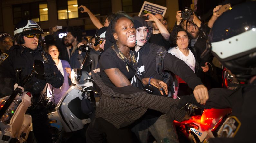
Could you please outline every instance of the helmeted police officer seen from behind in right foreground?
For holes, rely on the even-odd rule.
[[[217,138],[208,140],[210,143],[255,142],[252,131],[256,128],[255,15],[256,1],[236,5],[215,21],[210,32],[205,53],[211,51],[240,83],[234,90],[213,88],[209,91],[203,108],[232,108],[228,122],[223,123]]]

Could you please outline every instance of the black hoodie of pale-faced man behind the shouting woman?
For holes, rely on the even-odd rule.
[[[146,26],[148,29],[147,22],[138,16],[133,17],[135,29]],[[141,78],[154,77],[161,80],[160,75],[156,71],[156,56],[161,46],[149,43],[148,40],[151,37],[151,31],[148,30],[145,44],[136,52],[137,59],[137,73]],[[164,47],[163,47],[164,48]],[[171,71],[175,75],[181,77],[188,86],[194,90],[197,85],[203,84],[189,66],[179,58],[175,57],[170,53],[166,53],[163,62],[164,70]],[[139,84],[141,88],[142,85]]]

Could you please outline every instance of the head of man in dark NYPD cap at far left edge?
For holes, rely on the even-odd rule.
[[[9,33],[0,33],[0,55],[13,46],[13,39]]]

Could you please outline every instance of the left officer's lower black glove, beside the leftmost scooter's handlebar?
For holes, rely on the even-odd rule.
[[[42,81],[35,81],[30,84],[25,91],[29,91],[32,95],[39,94],[45,87],[46,83]]]

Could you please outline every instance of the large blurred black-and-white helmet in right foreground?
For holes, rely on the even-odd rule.
[[[213,24],[207,48],[236,75],[247,81],[256,75],[256,1],[242,3],[224,12]]]

